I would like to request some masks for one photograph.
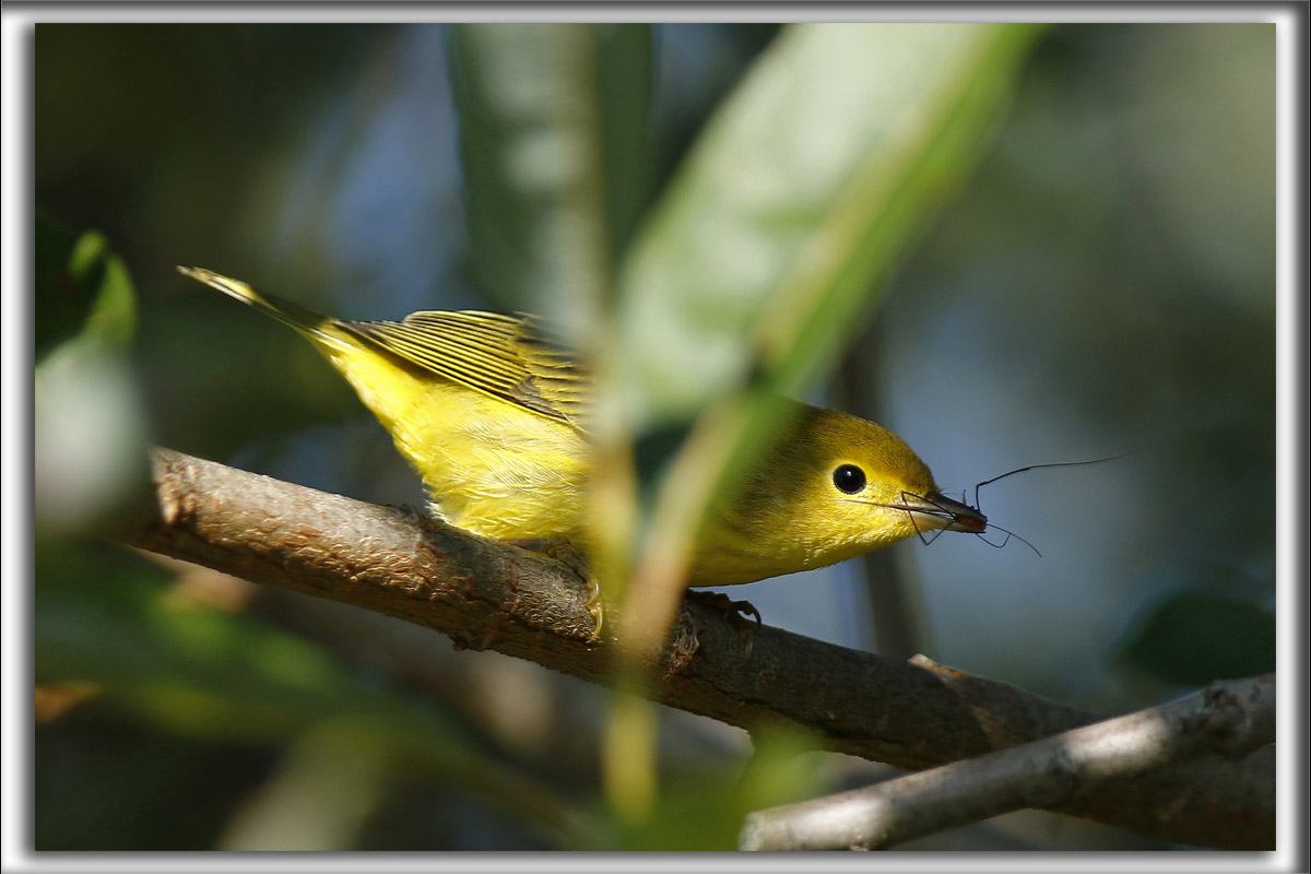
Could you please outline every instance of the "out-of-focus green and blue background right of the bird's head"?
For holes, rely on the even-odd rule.
[[[982,491],[1044,558],[935,544],[937,658],[1120,712],[1172,693],[1109,666],[1156,604],[1217,594],[1200,567],[1273,608],[1273,52],[1268,25],[1055,29],[889,295],[884,409],[945,489],[1142,447]],[[1190,630],[1180,658],[1227,646]]]

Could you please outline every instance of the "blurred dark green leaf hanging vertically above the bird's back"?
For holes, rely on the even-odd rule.
[[[494,296],[576,330],[608,291],[646,194],[650,29],[450,33],[475,262]]]

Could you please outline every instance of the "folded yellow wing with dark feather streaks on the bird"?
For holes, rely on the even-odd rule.
[[[343,321],[338,328],[460,385],[583,428],[589,375],[526,314],[417,312],[404,321]]]

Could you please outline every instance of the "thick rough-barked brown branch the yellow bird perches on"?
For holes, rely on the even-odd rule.
[[[610,684],[612,647],[589,645],[587,590],[551,558],[408,508],[351,501],[152,451],[153,491],[113,532],[122,542],[256,583],[396,616]],[[607,611],[608,616],[610,611]],[[607,622],[608,624],[608,622]],[[611,628],[617,624],[611,624]],[[894,662],[781,629],[750,658],[717,611],[684,601],[648,694],[746,730],[785,725],[817,748],[919,770],[1087,725],[1095,715],[923,658]],[[1112,780],[1050,810],[1165,840],[1274,845],[1274,757],[1171,767]]]

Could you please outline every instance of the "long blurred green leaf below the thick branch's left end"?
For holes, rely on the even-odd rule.
[[[94,684],[96,706],[210,743],[287,743],[336,726],[323,735],[333,748],[354,738],[385,751],[389,767],[440,776],[565,839],[581,826],[430,702],[355,677],[321,647],[249,616],[170,599],[168,579],[108,545],[38,542],[37,681]]]

